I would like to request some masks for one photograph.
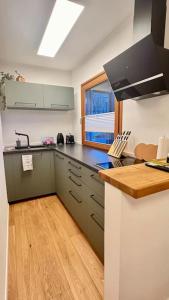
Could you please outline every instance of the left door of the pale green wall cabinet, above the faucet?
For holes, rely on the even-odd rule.
[[[41,84],[6,81],[5,96],[7,108],[44,108],[43,89]]]

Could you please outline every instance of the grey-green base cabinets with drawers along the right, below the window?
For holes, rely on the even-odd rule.
[[[104,184],[98,174],[55,153],[56,193],[104,261]]]

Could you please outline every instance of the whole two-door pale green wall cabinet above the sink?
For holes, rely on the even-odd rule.
[[[72,87],[7,80],[1,92],[9,109],[71,110],[74,108]],[[1,106],[1,105],[0,105]]]

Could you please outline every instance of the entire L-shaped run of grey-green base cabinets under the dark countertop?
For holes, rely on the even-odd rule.
[[[33,170],[23,171],[22,155],[5,154],[8,201],[56,193],[104,261],[104,184],[97,172],[58,151],[32,151]]]

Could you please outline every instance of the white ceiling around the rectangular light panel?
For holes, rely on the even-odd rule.
[[[55,0],[0,0],[0,59],[72,70],[133,11],[134,0],[74,0],[85,6],[55,58],[37,56]],[[55,38],[55,37],[54,37]]]

